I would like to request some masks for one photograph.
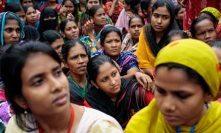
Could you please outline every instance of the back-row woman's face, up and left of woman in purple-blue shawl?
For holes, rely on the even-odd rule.
[[[106,15],[103,8],[97,10],[94,14],[94,22],[97,25],[106,25]]]

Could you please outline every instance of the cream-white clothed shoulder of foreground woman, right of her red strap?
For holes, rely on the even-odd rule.
[[[79,123],[77,133],[122,133],[119,123],[111,116],[98,110],[84,107],[84,114]]]

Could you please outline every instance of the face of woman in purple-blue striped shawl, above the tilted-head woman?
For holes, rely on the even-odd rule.
[[[104,44],[102,48],[104,52],[110,57],[119,56],[121,52],[120,36],[114,31],[108,33],[106,38],[104,39]]]

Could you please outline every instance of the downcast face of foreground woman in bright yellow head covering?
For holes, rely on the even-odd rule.
[[[158,68],[155,86],[157,106],[170,125],[192,126],[205,113],[209,95],[183,70]]]

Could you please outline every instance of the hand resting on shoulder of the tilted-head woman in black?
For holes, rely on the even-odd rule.
[[[139,82],[139,84],[141,84],[145,89],[152,90],[151,86],[153,84],[153,80],[151,79],[149,75],[146,75],[142,72],[136,72],[135,77],[137,81]]]

